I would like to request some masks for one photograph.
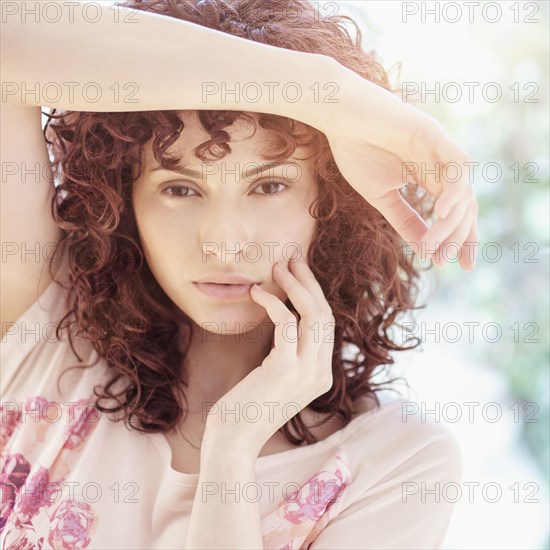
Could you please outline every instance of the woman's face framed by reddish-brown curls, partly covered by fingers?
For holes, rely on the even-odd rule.
[[[202,329],[236,334],[263,328],[270,322],[267,312],[248,291],[215,297],[196,281],[238,275],[286,300],[272,268],[296,249],[307,261],[315,231],[308,207],[316,187],[313,161],[296,156],[304,158],[311,151],[297,149],[284,164],[269,167],[272,162],[260,154],[269,132],[258,126],[248,138],[250,123],[238,119],[225,129],[231,154],[203,163],[193,149],[210,134],[196,112],[180,116],[185,128],[170,152],[182,152],[182,164],[194,173],[160,168],[149,143],[144,172],[134,182],[133,207],[145,258],[164,292]],[[256,173],[260,168],[264,171]]]

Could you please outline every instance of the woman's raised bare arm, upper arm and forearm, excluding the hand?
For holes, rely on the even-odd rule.
[[[59,2],[57,10],[49,5],[49,11],[34,1],[2,6],[2,336],[10,327],[21,330],[15,321],[51,282],[46,260],[59,239],[50,214],[53,178],[41,107],[246,110],[319,127],[315,86],[343,69],[326,56],[114,2]],[[292,101],[280,100],[285,86]]]

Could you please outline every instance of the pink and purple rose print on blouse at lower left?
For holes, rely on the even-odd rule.
[[[63,484],[69,472],[70,455],[79,450],[97,425],[97,415],[89,402],[82,399],[63,411],[68,413],[67,422],[59,439],[59,455],[50,467],[40,462],[32,464],[29,453],[11,453],[6,449],[12,434],[15,435],[24,426],[27,448],[32,453],[55,429],[57,418],[50,414],[55,411],[57,416],[62,407],[42,396],[34,396],[27,400],[24,408],[27,421],[22,423],[20,410],[0,405],[0,531],[3,548],[41,549],[45,540],[51,548],[67,550],[88,548],[90,545],[98,521],[92,505],[71,498],[71,494],[63,494],[65,490],[70,493],[70,484]],[[44,523],[44,518],[47,519],[47,532],[38,528],[39,517],[42,519],[40,524]]]

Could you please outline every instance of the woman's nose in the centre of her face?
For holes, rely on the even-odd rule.
[[[239,262],[241,254],[253,242],[254,224],[238,205],[227,197],[213,199],[200,218],[199,238],[203,261],[210,255],[222,262]]]

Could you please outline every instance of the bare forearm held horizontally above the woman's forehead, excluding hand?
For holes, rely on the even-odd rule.
[[[24,17],[22,3],[11,4],[11,11],[17,9],[17,13],[5,15],[2,24],[3,100],[30,106],[95,112],[246,110],[312,124],[324,99],[312,87],[322,90],[324,84],[337,80],[341,70],[323,55],[276,48],[172,17],[116,8],[112,3],[95,3],[96,22],[91,23],[90,12],[83,11],[87,2],[62,2],[58,11],[62,17],[55,24],[40,16]],[[97,10],[100,15],[95,15]],[[19,89],[6,87],[6,82]],[[40,93],[52,83],[59,86]],[[81,88],[86,83],[99,86],[99,100],[85,97]],[[128,83],[135,83],[137,91],[134,87],[123,90]],[[281,100],[288,83],[293,88],[287,95],[299,90],[300,100]],[[39,93],[23,95],[23,84],[37,86]],[[89,92],[94,95],[95,89]]]

